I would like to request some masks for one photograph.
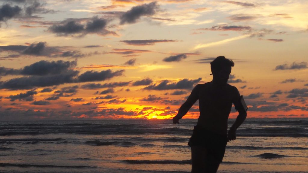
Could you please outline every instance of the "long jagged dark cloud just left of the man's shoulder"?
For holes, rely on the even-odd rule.
[[[176,83],[169,83],[170,81],[164,80],[158,85],[149,85],[145,87],[145,90],[175,90],[175,89],[191,89],[195,84],[201,81],[202,78],[198,78],[195,80],[182,79]]]

